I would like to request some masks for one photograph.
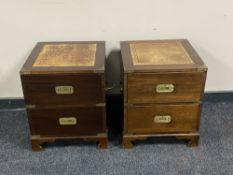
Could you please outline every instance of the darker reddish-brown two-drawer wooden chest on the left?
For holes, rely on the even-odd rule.
[[[20,74],[33,150],[75,138],[107,147],[104,42],[38,43]]]

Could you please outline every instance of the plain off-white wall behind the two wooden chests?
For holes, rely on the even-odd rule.
[[[21,97],[37,41],[188,38],[209,67],[207,91],[233,90],[232,0],[0,0],[0,97]]]

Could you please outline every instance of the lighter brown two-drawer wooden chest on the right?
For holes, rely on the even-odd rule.
[[[121,42],[123,147],[175,136],[197,146],[207,67],[187,40]]]

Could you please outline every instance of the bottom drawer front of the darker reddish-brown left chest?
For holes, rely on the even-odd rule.
[[[90,136],[106,130],[105,108],[27,110],[32,135]]]

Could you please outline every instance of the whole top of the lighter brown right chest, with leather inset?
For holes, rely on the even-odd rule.
[[[206,68],[187,40],[124,41],[125,72],[188,71]]]

